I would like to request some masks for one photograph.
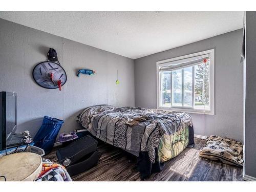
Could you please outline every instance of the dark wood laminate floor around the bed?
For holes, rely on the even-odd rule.
[[[177,157],[165,162],[160,173],[144,181],[242,181],[242,168],[210,161],[199,157],[205,140],[195,138],[195,147],[186,148]],[[136,168],[136,158],[105,143],[97,150],[102,154],[98,164],[79,175],[73,181],[141,181]],[[57,162],[56,148],[44,158]]]

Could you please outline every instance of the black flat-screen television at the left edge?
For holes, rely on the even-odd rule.
[[[0,150],[7,148],[17,129],[17,94],[0,92]]]

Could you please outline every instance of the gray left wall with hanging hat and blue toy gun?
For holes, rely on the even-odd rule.
[[[34,136],[45,115],[64,120],[60,132],[70,132],[79,127],[76,116],[87,106],[134,106],[133,59],[4,19],[0,26],[0,91],[17,93],[17,132],[29,130]],[[67,73],[61,91],[41,88],[32,77],[34,66],[47,59],[49,47],[57,51]],[[77,77],[83,68],[96,74]]]

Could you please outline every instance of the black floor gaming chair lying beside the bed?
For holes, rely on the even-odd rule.
[[[84,172],[97,164],[101,154],[96,151],[98,141],[87,135],[66,147],[59,148],[56,156],[70,176]]]

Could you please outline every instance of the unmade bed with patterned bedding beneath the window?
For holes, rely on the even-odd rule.
[[[96,105],[78,119],[94,137],[137,156],[141,179],[160,172],[165,161],[194,146],[192,119],[184,112]]]

